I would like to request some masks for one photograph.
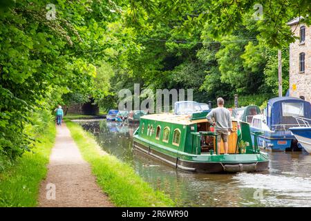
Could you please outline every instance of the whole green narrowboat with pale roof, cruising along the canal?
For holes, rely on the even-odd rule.
[[[198,173],[267,171],[267,153],[252,144],[249,124],[232,119],[227,155],[223,142],[217,155],[216,133],[207,112],[188,115],[162,113],[140,117],[133,135],[133,149],[156,157],[176,169]],[[255,134],[257,136],[258,134]]]

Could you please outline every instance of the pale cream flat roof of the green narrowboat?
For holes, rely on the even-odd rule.
[[[153,114],[153,115],[145,115],[140,117],[140,119],[149,119],[155,120],[158,122],[168,122],[173,124],[182,124],[182,125],[190,125],[197,124],[201,122],[207,122],[207,119],[194,119],[191,120],[192,115],[175,115],[173,113],[161,113],[161,114]]]

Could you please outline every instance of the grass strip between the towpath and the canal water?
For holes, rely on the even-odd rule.
[[[109,154],[100,154],[93,135],[81,126],[66,121],[84,159],[91,164],[97,183],[115,206],[174,206],[161,191],[154,191],[128,164]]]

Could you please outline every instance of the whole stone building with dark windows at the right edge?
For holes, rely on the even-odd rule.
[[[311,26],[303,23],[303,17],[293,19],[288,25],[299,37],[290,44],[290,96],[303,96],[311,102]]]

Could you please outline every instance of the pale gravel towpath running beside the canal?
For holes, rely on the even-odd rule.
[[[48,174],[41,182],[39,206],[113,206],[97,186],[91,167],[82,159],[66,124],[57,126]]]

